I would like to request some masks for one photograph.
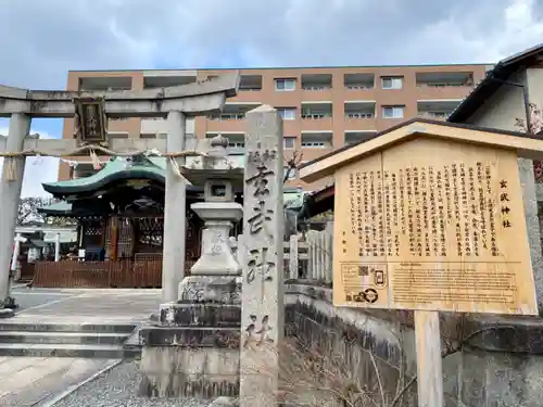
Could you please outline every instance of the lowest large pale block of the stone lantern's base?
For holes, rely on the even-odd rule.
[[[214,399],[239,393],[239,348],[143,347],[138,393]]]

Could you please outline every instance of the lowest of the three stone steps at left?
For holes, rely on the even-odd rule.
[[[0,356],[30,357],[85,357],[94,359],[132,358],[140,355],[140,349],[123,348],[122,345],[80,345],[53,343],[2,343]]]

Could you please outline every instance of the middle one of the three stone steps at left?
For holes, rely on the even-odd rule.
[[[130,333],[117,332],[55,332],[55,331],[0,331],[2,343],[56,343],[122,345]]]

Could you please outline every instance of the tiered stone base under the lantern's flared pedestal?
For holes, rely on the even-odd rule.
[[[236,397],[239,393],[241,278],[191,276],[160,322],[140,330],[139,393],[149,397]]]

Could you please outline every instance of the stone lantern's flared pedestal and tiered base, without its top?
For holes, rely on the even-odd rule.
[[[241,267],[230,249],[235,202],[191,208],[204,220],[202,255],[179,284],[178,301],[162,304],[155,327],[140,330],[140,394],[157,397],[235,397],[239,392]]]

